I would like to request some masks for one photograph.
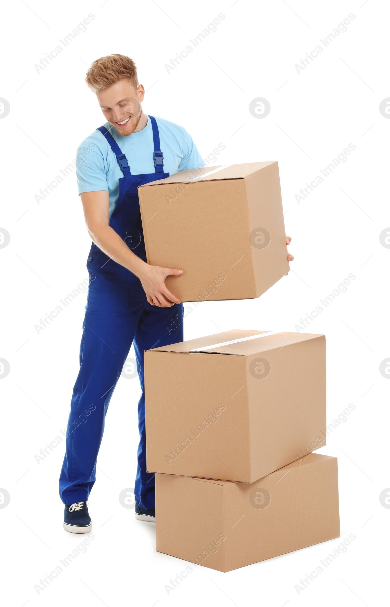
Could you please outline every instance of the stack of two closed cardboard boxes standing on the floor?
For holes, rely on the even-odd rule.
[[[145,403],[157,551],[230,571],[340,535],[337,459],[311,453],[326,444],[323,335],[146,351]]]

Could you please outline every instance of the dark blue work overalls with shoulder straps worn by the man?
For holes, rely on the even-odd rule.
[[[110,144],[124,174],[118,182],[118,202],[109,225],[145,262],[137,187],[169,177],[163,168],[156,119],[149,118],[156,169],[152,174],[132,175],[125,154],[106,127],[97,129]],[[64,504],[86,501],[89,497],[95,483],[96,461],[108,405],[134,341],[142,387],[138,404],[140,443],[134,493],[137,504],[149,510],[154,507],[154,475],[146,472],[143,352],[183,341],[183,305],[158,308],[148,304],[139,278],[106,256],[94,243],[87,270],[89,289],[80,345],[80,372],[70,404],[60,497]]]

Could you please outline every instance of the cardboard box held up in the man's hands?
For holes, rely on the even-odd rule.
[[[278,163],[182,171],[139,189],[148,263],[183,302],[259,297],[289,271]]]

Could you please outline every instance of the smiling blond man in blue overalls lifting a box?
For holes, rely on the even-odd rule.
[[[77,152],[78,189],[92,246],[80,372],[60,475],[64,529],[73,533],[92,528],[87,499],[106,411],[132,342],[142,387],[135,517],[155,521],[154,475],[146,472],[143,352],[183,341],[183,306],[165,286],[167,276],[183,271],[146,263],[137,187],[204,166],[185,129],[143,114],[145,90],[132,59],[118,54],[97,59],[86,83],[107,122]]]

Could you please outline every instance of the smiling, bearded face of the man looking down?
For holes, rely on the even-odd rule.
[[[135,89],[128,80],[120,80],[96,93],[104,117],[120,135],[131,135],[137,128],[144,93],[142,84]]]

